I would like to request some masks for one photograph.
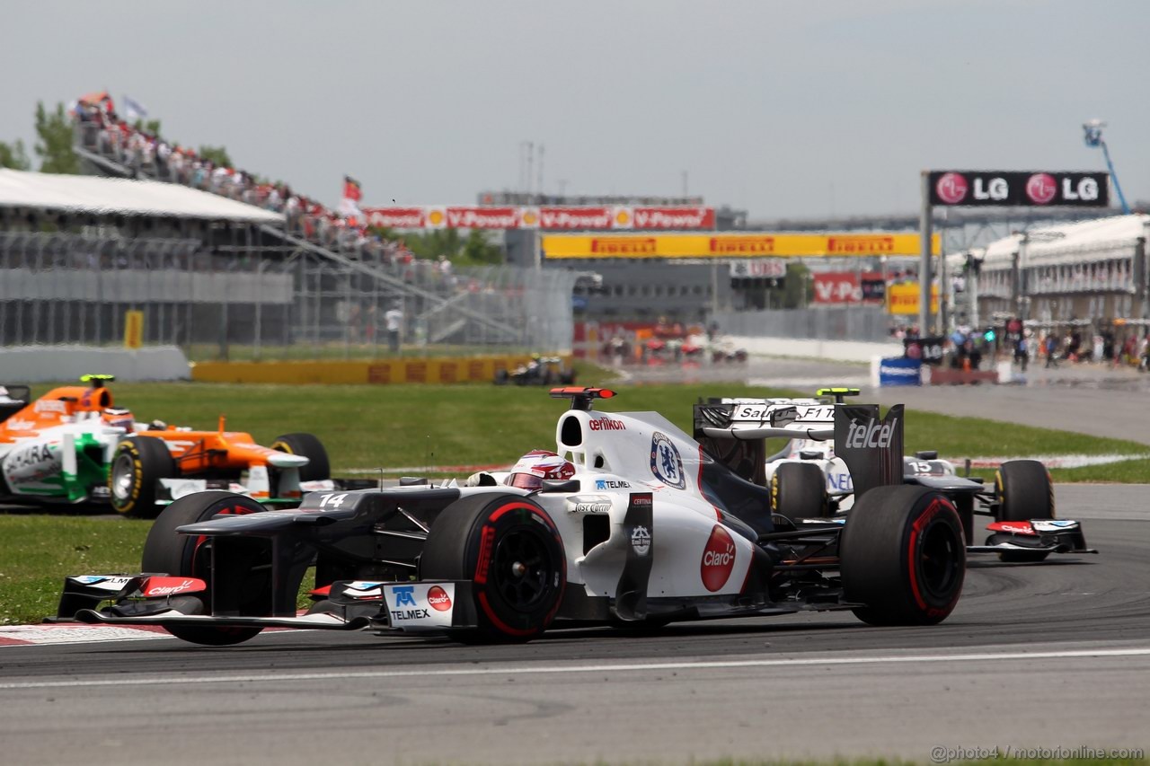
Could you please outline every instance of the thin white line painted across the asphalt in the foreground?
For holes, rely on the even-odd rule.
[[[275,675],[200,675],[116,677],[98,681],[23,681],[0,683],[8,689],[78,689],[84,687],[155,687],[178,683],[270,683],[350,679],[406,679],[468,675],[538,675],[547,673],[647,673],[651,671],[707,671],[720,668],[804,667],[812,665],[879,665],[887,662],[983,662],[992,660],[1048,660],[1074,657],[1144,657],[1150,649],[1083,649],[1048,652],[980,652],[972,654],[912,654],[896,657],[816,657],[807,659],[715,660],[683,662],[622,662],[618,665],[540,665],[460,667],[427,671],[358,671],[347,673],[276,673]]]

